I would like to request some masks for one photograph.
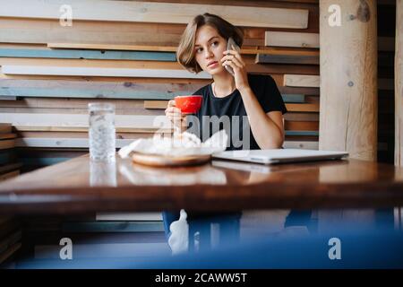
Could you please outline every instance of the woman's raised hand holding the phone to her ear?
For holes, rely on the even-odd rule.
[[[241,91],[249,88],[246,65],[244,64],[241,54],[239,54],[234,47],[232,50],[224,51],[223,54],[225,56],[221,58],[221,65],[229,65],[234,70],[236,89]]]

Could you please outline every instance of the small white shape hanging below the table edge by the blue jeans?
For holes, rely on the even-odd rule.
[[[168,245],[172,249],[172,254],[187,252],[189,246],[189,224],[186,222],[187,213],[181,209],[179,220],[172,222],[169,226],[171,235]]]

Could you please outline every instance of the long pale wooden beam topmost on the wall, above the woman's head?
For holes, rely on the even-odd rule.
[[[2,4],[0,17],[39,18],[59,20],[64,0],[14,0]],[[171,4],[132,1],[70,0],[73,21],[104,22],[166,22],[187,24],[200,13],[213,13],[236,26],[271,28],[308,28],[308,10],[229,6],[210,4]]]

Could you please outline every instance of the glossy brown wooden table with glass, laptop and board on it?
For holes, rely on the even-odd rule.
[[[85,155],[0,184],[0,213],[13,214],[401,205],[403,169],[356,160],[159,169],[119,158],[97,164]]]

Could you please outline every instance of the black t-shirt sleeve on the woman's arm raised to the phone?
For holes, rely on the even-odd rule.
[[[256,96],[264,112],[280,111],[282,114],[287,113],[286,105],[273,78],[270,75],[264,75],[260,77],[258,83],[262,87],[259,89],[262,94]]]

